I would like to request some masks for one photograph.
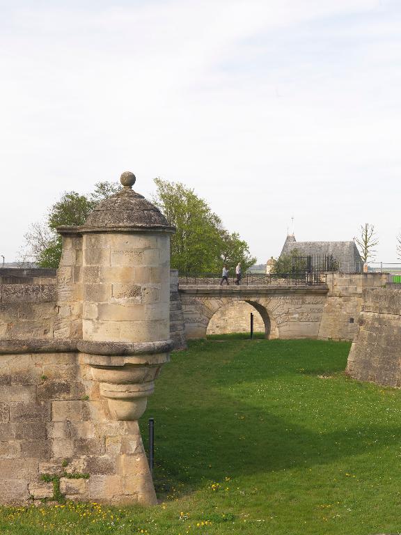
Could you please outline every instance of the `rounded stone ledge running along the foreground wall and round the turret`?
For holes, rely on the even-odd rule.
[[[156,342],[91,342],[84,340],[0,340],[0,355],[24,353],[73,353],[88,355],[155,355],[173,350],[172,340]]]

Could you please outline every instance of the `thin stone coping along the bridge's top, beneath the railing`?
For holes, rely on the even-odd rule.
[[[301,284],[249,284],[249,286],[230,285],[220,286],[220,284],[179,284],[178,291],[186,295],[215,295],[219,297],[233,297],[233,295],[264,295],[271,293],[328,293],[327,284],[314,286]]]

